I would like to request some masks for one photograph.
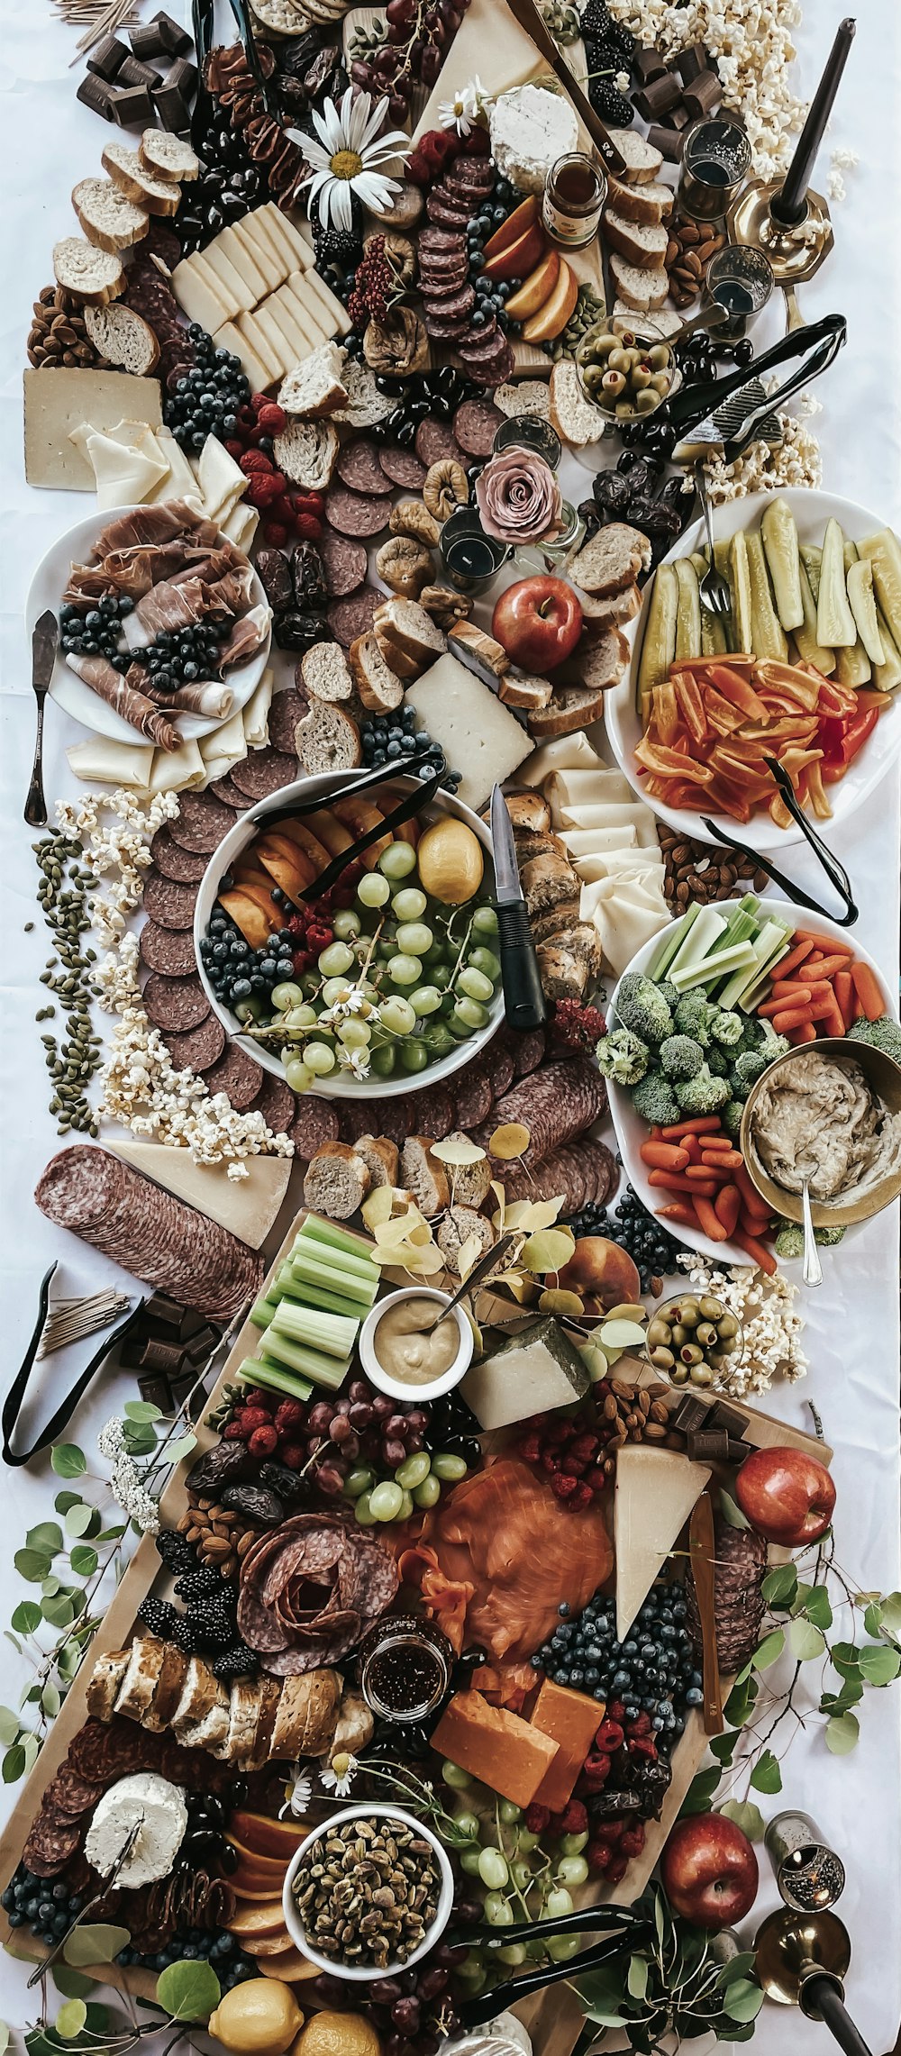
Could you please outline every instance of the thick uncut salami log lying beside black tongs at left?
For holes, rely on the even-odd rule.
[[[210,1320],[235,1320],[259,1291],[261,1256],[107,1149],[62,1149],[39,1178],[35,1201],[58,1227]]]

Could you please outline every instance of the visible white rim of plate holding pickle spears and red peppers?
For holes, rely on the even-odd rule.
[[[823,543],[827,520],[837,520],[852,543],[858,543],[864,535],[874,535],[876,528],[885,528],[885,522],[878,520],[876,514],[868,514],[866,508],[858,508],[854,500],[835,500],[833,493],[792,487],[780,493],[780,498],[792,508],[802,543]],[[730,500],[728,506],[712,508],[714,541],[728,541],[736,528],[759,528],[761,514],[767,506],[771,506],[771,493],[751,493],[747,500]],[[677,557],[689,557],[691,551],[704,549],[704,522],[697,520],[691,528],[685,528],[685,535],[679,537],[662,561],[675,563]],[[605,726],[617,765],[629,779],[634,792],[638,792],[638,798],[644,800],[644,804],[650,806],[660,820],[666,820],[679,835],[710,841],[699,814],[691,814],[687,808],[662,806],[660,800],[652,800],[646,790],[648,781],[646,777],[640,777],[636,765],[634,748],[642,738],[642,724],[636,707],[636,681],[648,617],[648,594],[650,584],[644,588],[644,607],[638,621],[629,623],[623,631],[632,644],[632,664],[621,683],[607,693]],[[728,658],[724,658],[724,662],[728,664]],[[895,757],[901,750],[899,709],[901,697],[899,707],[887,707],[887,711],[880,713],[872,736],[864,742],[860,757],[854,759],[845,777],[837,785],[827,785],[835,827],[850,820],[850,816],[864,804],[864,800],[870,798],[872,790],[895,763]],[[710,814],[710,818],[716,822],[718,843],[730,843],[734,835],[738,835],[751,849],[786,849],[788,843],[802,841],[802,833],[794,822],[790,829],[778,829],[765,810],[753,814],[747,824],[732,820],[730,814]],[[808,814],[808,818],[819,835],[829,837],[829,820],[815,820],[813,814]]]

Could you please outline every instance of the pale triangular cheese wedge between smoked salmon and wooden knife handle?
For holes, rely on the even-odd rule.
[[[625,1641],[708,1478],[706,1464],[689,1464],[677,1449],[623,1443],[617,1452],[617,1641]]]

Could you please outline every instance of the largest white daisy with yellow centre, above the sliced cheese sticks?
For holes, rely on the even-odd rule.
[[[387,103],[372,105],[368,93],[354,99],[354,88],[341,97],[341,105],[325,101],[323,111],[313,111],[317,138],[288,130],[292,142],[302,150],[313,171],[307,185],[309,212],[317,212],[323,228],[352,228],[354,193],[372,214],[383,214],[397,193],[397,179],[389,179],[383,167],[389,158],[409,150],[409,136],[403,130],[387,130]]]

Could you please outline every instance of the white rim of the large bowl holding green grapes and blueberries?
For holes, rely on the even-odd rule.
[[[230,1014],[228,1007],[224,1007],[222,1001],[216,999],[216,993],[210,985],[210,979],[206,975],[200,956],[200,944],[204,940],[210,915],[216,907],[218,882],[222,874],[228,872],[232,864],[237,864],[241,851],[247,849],[247,843],[253,841],[261,822],[269,814],[282,814],[292,800],[309,800],[315,798],[317,794],[335,792],[337,785],[352,787],[356,777],[360,777],[358,771],[321,771],[315,777],[302,777],[296,779],[296,783],[292,785],[282,785],[280,792],[274,792],[265,800],[259,800],[257,806],[249,806],[247,812],[241,814],[241,818],[235,822],[235,829],[230,829],[228,835],[222,839],[216,853],[210,857],[210,864],[204,872],[202,886],[197,892],[197,903],[193,909],[193,948],[206,997],[212,1005],[212,1012],[226,1028],[230,1040],[237,1042],[239,1049],[245,1049],[249,1057],[255,1057],[257,1063],[263,1065],[263,1071],[272,1071],[274,1077],[284,1077],[282,1057],[278,1055],[278,1051],[267,1049],[265,1042],[257,1042],[255,1036],[241,1034],[241,1022],[237,1022],[235,1014]],[[409,773],[407,775],[397,773],[397,779],[391,779],[391,785],[397,785],[399,792],[409,792],[420,781],[411,779]],[[376,804],[381,804],[381,798],[383,798],[383,787],[376,787],[374,792]],[[469,806],[463,806],[463,800],[455,800],[453,794],[448,792],[436,792],[432,800],[428,800],[424,812],[430,818],[436,814],[453,814],[457,820],[467,822],[467,829],[471,829],[473,835],[479,837],[479,843],[488,855],[485,884],[488,890],[492,890],[492,876],[494,876],[490,872],[492,835],[485,822],[479,820],[479,816],[473,814]],[[440,1057],[438,1063],[426,1065],[424,1071],[399,1071],[397,1077],[352,1077],[350,1071],[331,1071],[329,1077],[323,1077],[321,1084],[317,1084],[313,1090],[319,1092],[325,1100],[391,1100],[399,1092],[422,1092],[424,1086],[438,1086],[442,1077],[450,1077],[453,1071],[459,1071],[461,1065],[471,1063],[473,1057],[477,1057],[477,1053],[485,1047],[485,1042],[490,1042],[492,1034],[496,1032],[502,1014],[504,1014],[504,993],[498,979],[498,989],[485,1026],[477,1028],[475,1034],[467,1036],[465,1042],[459,1042],[448,1057]]]

